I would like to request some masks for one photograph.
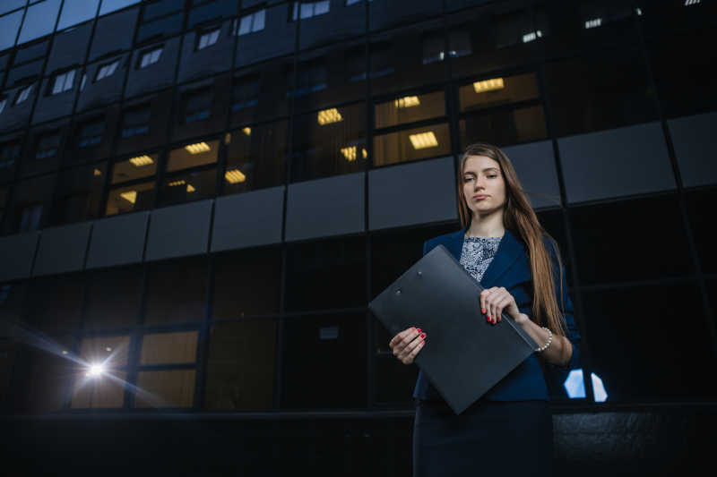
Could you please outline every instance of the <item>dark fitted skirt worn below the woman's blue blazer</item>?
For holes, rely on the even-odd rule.
[[[416,399],[413,477],[552,474],[549,401],[479,399],[456,415],[444,401]]]

